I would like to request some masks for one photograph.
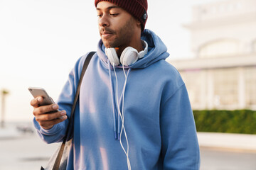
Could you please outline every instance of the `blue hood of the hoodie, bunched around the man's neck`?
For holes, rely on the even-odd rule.
[[[129,65],[125,68],[131,69],[143,69],[145,67],[149,67],[149,65],[157,62],[159,60],[166,60],[169,57],[169,53],[167,52],[167,47],[164,45],[164,42],[157,36],[153,31],[145,29],[142,32],[142,40],[145,40],[148,45],[148,53],[142,58],[139,59],[132,65]],[[105,45],[103,44],[102,40],[98,43],[97,47],[97,55],[100,57],[100,60],[108,67],[107,64],[107,55],[105,55]],[[117,66],[122,68],[120,64]]]

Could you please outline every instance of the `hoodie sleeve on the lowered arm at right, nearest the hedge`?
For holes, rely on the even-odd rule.
[[[161,106],[161,157],[163,169],[200,168],[196,125],[185,84]]]

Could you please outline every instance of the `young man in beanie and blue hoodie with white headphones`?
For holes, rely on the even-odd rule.
[[[186,86],[165,61],[161,39],[144,30],[147,1],[95,0],[95,6],[101,40],[82,81],[68,169],[199,169]],[[31,101],[34,125],[48,143],[65,135],[86,57],[70,72],[58,105]]]

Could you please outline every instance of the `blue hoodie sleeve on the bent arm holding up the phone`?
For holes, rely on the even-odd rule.
[[[80,72],[81,72],[82,64],[84,60],[85,60],[85,57],[81,57],[78,60],[78,62],[76,62],[75,67],[70,72],[68,76],[68,81],[66,81],[65,85],[63,86],[63,89],[58,98],[57,103],[58,103],[59,109],[60,111],[63,111],[63,110],[66,111],[68,115],[68,119],[54,125],[53,128],[50,128],[49,130],[43,129],[35,120],[35,118],[33,119],[33,124],[38,132],[38,135],[46,143],[61,142],[63,140],[63,137],[65,136],[65,131],[68,127],[70,112],[73,106],[73,100],[75,98],[75,91],[78,86]]]

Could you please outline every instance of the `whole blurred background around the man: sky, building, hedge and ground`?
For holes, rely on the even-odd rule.
[[[201,169],[256,169],[256,0],[148,0],[146,28],[186,83]],[[57,145],[33,130],[29,86],[58,99],[96,50],[94,1],[0,0],[0,169],[38,169]]]

